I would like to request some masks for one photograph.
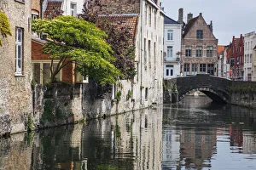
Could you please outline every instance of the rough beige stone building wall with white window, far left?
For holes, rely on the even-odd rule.
[[[31,1],[1,0],[12,36],[0,47],[0,135],[25,131],[32,114]]]

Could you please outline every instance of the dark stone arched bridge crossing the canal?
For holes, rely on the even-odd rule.
[[[250,87],[250,88],[248,88]],[[177,77],[165,80],[164,103],[175,103],[182,100],[186,95],[196,90],[206,94],[210,99],[222,103],[233,103],[232,94],[234,89],[255,90],[256,82],[238,82],[226,78],[214,77],[208,74],[197,74],[196,76]],[[253,91],[254,92],[254,91]],[[236,93],[236,92],[235,92]]]

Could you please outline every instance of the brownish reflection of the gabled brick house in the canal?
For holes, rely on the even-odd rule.
[[[210,160],[212,149],[216,145],[216,129],[205,131],[198,128],[184,129],[181,133],[181,157],[185,166],[202,168],[211,167],[204,161]]]

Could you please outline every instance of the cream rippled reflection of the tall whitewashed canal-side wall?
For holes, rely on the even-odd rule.
[[[111,120],[115,144],[113,156],[134,156],[133,167],[129,169],[161,169],[161,106],[155,110],[126,113],[124,116],[112,117]]]

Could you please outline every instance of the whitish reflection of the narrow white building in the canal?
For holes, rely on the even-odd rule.
[[[180,161],[180,130],[163,127],[163,167],[173,167]]]

